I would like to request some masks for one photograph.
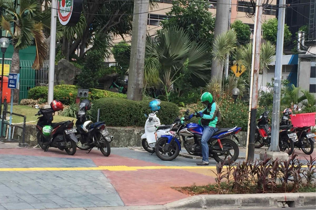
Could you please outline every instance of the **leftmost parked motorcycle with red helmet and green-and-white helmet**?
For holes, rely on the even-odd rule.
[[[73,121],[52,123],[55,111],[63,110],[63,105],[60,101],[54,100],[52,104],[51,108],[48,109],[40,109],[38,105],[35,106],[36,109],[39,109],[35,116],[42,115],[38,118],[36,125],[38,145],[45,152],[49,147],[55,147],[65,150],[68,155],[74,155],[76,153],[76,143],[78,142],[75,135],[77,131],[73,128],[74,123]]]

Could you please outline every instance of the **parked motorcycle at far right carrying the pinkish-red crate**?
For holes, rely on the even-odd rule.
[[[301,109],[297,107],[296,110],[300,111]],[[283,116],[281,118],[280,124],[290,125],[291,114],[292,114],[292,110],[289,108],[286,108],[283,111]],[[316,135],[314,133],[310,133],[311,127],[310,126],[296,127],[295,132],[298,136],[298,141],[294,143],[294,147],[301,149],[307,155],[312,154],[314,150],[314,142],[315,142],[314,137]]]

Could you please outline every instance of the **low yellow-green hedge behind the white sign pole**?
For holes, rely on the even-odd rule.
[[[54,98],[60,100],[64,105],[71,105],[76,100],[78,88],[76,85],[56,85],[54,86]],[[107,90],[90,88],[89,91],[88,99],[91,101],[105,97],[126,98],[125,94],[113,93]],[[47,94],[48,87],[39,86],[28,91],[28,98],[34,100],[47,99]]]

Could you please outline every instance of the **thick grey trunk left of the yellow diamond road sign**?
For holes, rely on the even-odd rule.
[[[214,38],[227,31],[229,19],[227,14],[229,13],[230,6],[231,5],[228,4],[228,0],[217,0]],[[213,59],[211,76],[219,76],[222,78],[222,74],[222,64],[219,60]]]

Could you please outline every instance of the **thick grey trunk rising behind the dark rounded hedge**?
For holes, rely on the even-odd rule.
[[[149,0],[134,1],[127,99],[139,101],[143,94],[144,60]]]

